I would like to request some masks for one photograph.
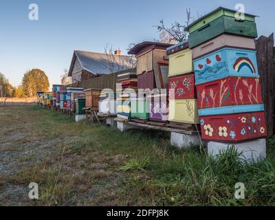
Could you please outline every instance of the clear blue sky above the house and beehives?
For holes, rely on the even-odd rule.
[[[259,15],[259,35],[274,32],[274,0],[1,0],[0,72],[19,85],[27,69],[36,67],[51,84],[60,83],[74,50],[104,52],[109,43],[125,54],[129,43],[158,39],[153,25],[159,19],[170,24],[184,21],[189,7],[197,16],[240,2],[246,12]],[[39,5],[39,21],[28,19],[30,3]]]

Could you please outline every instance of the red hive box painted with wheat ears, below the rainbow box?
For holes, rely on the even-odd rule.
[[[228,77],[197,85],[198,108],[263,104],[259,78]]]

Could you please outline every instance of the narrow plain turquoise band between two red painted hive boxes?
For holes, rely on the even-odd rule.
[[[234,113],[265,111],[263,104],[244,104],[212,109],[199,109],[199,116],[227,115]]]

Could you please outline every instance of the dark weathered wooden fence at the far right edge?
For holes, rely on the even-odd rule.
[[[256,40],[257,61],[261,76],[261,91],[265,104],[265,120],[268,135],[274,135],[275,107],[275,47],[274,34],[269,37],[260,36]]]

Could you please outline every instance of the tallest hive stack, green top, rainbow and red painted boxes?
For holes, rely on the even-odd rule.
[[[204,140],[267,135],[254,38],[255,16],[218,8],[187,27]]]

